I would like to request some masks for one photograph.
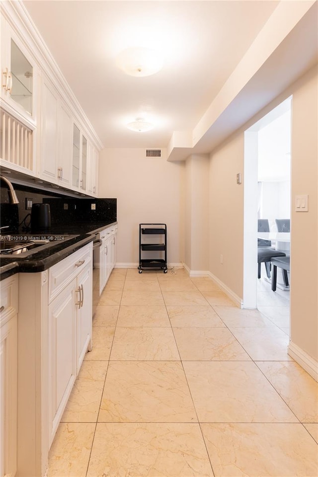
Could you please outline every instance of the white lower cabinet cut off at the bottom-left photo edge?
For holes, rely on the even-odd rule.
[[[1,282],[0,292],[0,476],[14,477],[17,466],[18,277]]]

